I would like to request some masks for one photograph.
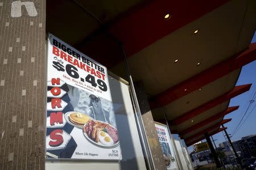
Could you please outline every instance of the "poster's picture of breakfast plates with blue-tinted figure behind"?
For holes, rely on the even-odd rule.
[[[111,101],[68,85],[74,111],[65,113],[65,120],[81,129],[85,140],[101,148],[119,145]]]

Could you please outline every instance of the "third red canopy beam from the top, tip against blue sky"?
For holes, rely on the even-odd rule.
[[[242,94],[243,92],[250,90],[250,87],[251,87],[251,84],[236,86],[233,88],[232,91],[229,91],[224,95],[218,96],[217,98],[210,100],[207,103],[200,105],[199,107],[192,109],[191,111],[184,113],[181,116],[175,118],[174,120],[172,120],[171,125],[179,125],[182,122],[189,120],[190,118],[193,118],[213,107],[216,107],[216,105],[219,105],[226,100],[232,99],[233,97],[236,97]]]

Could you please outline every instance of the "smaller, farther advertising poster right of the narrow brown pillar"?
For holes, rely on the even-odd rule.
[[[172,147],[167,126],[155,124],[155,129],[156,133],[158,134],[167,169],[176,169],[177,165],[174,155],[174,148]]]

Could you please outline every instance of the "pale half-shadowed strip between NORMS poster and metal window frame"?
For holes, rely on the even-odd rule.
[[[131,115],[134,114],[134,112],[131,105],[130,96],[124,96],[129,95],[129,91],[125,93],[125,90],[121,86],[126,85],[121,85],[118,80],[113,78],[109,79],[109,85],[113,103],[122,104],[122,107],[115,112],[115,120],[117,123],[122,152],[122,160],[120,162],[121,169],[139,169],[138,159],[141,159],[144,163],[144,158],[136,158],[137,153],[135,152],[134,144],[139,146],[141,146],[141,144],[138,143],[139,141],[137,141],[137,143],[134,143],[133,141],[133,138],[138,136],[138,130],[134,115]],[[127,107],[127,102],[130,102],[130,107]]]

